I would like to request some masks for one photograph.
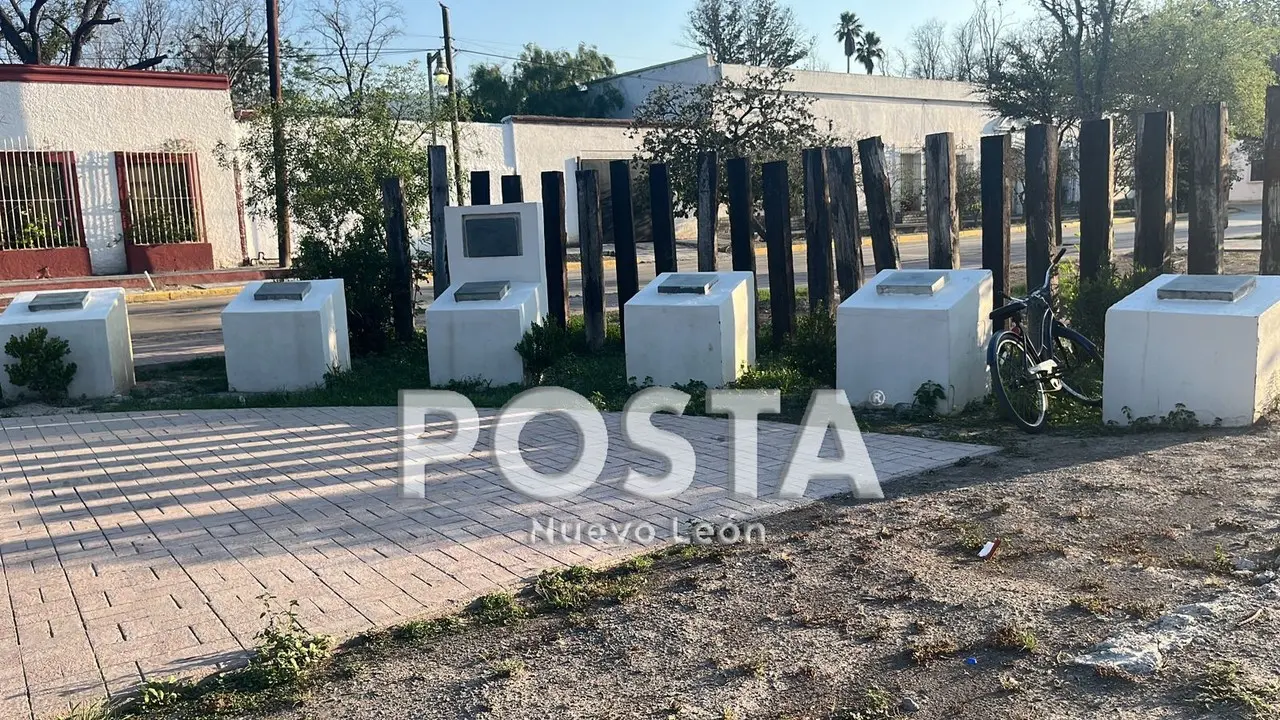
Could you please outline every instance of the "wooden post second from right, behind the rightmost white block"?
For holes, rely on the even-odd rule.
[[[1187,217],[1187,273],[1222,274],[1226,191],[1231,172],[1226,140],[1226,102],[1192,108],[1190,197]]]

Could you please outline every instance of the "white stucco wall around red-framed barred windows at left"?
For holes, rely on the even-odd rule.
[[[195,152],[214,264],[241,264],[234,174],[216,156],[220,143],[236,142],[227,90],[0,82],[0,138],[31,150],[76,152],[95,274],[125,272],[114,152]]]

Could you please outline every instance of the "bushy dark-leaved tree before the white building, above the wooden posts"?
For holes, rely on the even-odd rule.
[[[658,86],[632,119],[631,137],[640,141],[636,160],[667,163],[681,214],[696,204],[698,154],[707,150],[721,160],[788,160],[792,190],[799,191],[800,151],[831,145],[832,138],[817,129],[815,99],[786,91],[792,78],[791,72],[773,68],[749,72],[740,81]]]

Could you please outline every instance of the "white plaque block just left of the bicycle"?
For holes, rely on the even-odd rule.
[[[991,270],[881,270],[836,310],[836,387],[892,407],[933,382],[938,413],[986,397],[991,307]]]

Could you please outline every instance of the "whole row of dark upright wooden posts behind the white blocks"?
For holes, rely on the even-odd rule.
[[[1271,132],[1272,119],[1280,117],[1277,88],[1267,94],[1267,154],[1280,158],[1280,132]],[[1172,113],[1147,113],[1140,118],[1135,152],[1135,229],[1134,264],[1147,269],[1169,269],[1174,255],[1174,117]],[[1229,188],[1228,111],[1221,102],[1202,105],[1190,115],[1192,177],[1189,197],[1188,272],[1216,274],[1222,270],[1222,243]],[[1056,250],[1057,223],[1057,128],[1033,124],[1025,128],[1025,223],[1027,277],[1037,283],[1048,269]],[[1007,160],[1012,137],[1009,133],[980,140],[982,195],[982,266],[992,272],[996,304],[1010,291],[1010,209],[1012,178]],[[925,210],[928,218],[929,268],[960,266],[960,229],[956,206],[956,142],[952,133],[925,137]],[[449,202],[448,164],[444,146],[430,147],[431,208]],[[867,201],[867,234],[872,241],[877,270],[899,268],[897,237],[893,228],[892,195],[886,167],[884,145],[879,137],[858,141],[856,154],[861,169],[863,196]],[[1110,119],[1085,120],[1079,131],[1080,182],[1080,275],[1096,277],[1111,263],[1114,252],[1115,164],[1112,123]],[[815,147],[805,150],[804,163],[804,232],[808,272],[809,307],[812,313],[829,313],[840,300],[849,297],[863,282],[863,247],[858,193],[854,178],[854,149]],[[1280,183],[1280,159],[1267,163],[1267,187]],[[699,272],[717,269],[716,225],[719,215],[719,159],[716,152],[703,152],[698,159],[698,266]],[[671,176],[666,164],[648,168],[653,252],[655,274],[676,272],[676,228],[672,213]],[[728,197],[731,264],[733,270],[755,273],[753,243],[754,199],[751,197],[751,163],[746,158],[724,161]],[[764,210],[764,245],[769,279],[769,309],[776,342],[795,327],[796,293],[791,249],[791,192],[787,163],[764,163],[762,174],[762,206]],[[639,269],[635,241],[635,218],[631,202],[632,164],[614,160],[609,164],[612,186],[612,220],[618,309],[639,292]],[[581,255],[582,306],[588,342],[599,348],[605,337],[605,291],[603,227],[598,172],[577,170],[577,225]],[[550,315],[564,325],[568,320],[568,263],[564,227],[564,173],[541,173],[543,231]],[[1271,197],[1270,191],[1268,197]],[[488,172],[471,173],[471,204],[492,202]],[[520,176],[502,176],[502,202],[522,202],[524,182]],[[399,197],[399,181],[384,186],[388,215],[388,242],[392,258],[404,258],[403,269],[393,282],[393,309],[397,331],[412,333],[412,295],[407,265],[407,231]],[[1270,215],[1268,215],[1270,217]],[[1267,223],[1280,228],[1280,218],[1263,219],[1263,272],[1267,263],[1280,265],[1280,254],[1271,251]],[[1274,233],[1280,240],[1280,232]],[[435,259],[434,293],[438,297],[449,286],[444,246],[444,215],[431,213],[433,254]],[[1274,245],[1271,245],[1274,247]],[[686,268],[689,269],[689,268]],[[1280,273],[1280,266],[1270,269]],[[838,293],[838,296],[837,296]],[[838,300],[837,300],[838,297]]]

